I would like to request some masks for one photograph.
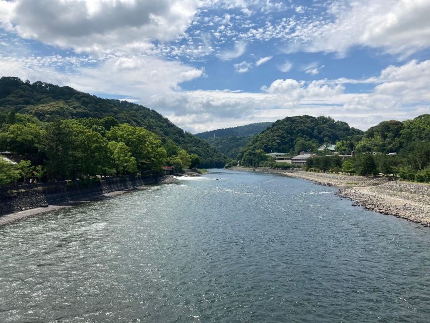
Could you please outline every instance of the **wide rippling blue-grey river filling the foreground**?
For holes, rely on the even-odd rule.
[[[428,322],[430,230],[212,171],[0,228],[2,322]]]

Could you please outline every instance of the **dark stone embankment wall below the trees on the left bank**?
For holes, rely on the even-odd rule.
[[[105,193],[154,184],[157,180],[156,175],[127,175],[106,177],[90,186],[75,181],[3,187],[0,189],[0,216],[39,207],[41,204],[88,200]]]

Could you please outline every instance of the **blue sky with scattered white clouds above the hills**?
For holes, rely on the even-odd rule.
[[[430,0],[0,0],[0,76],[126,99],[192,133],[430,113]]]

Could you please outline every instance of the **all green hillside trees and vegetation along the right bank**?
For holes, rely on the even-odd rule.
[[[321,153],[318,147],[323,143],[335,143],[339,154],[354,151],[355,155],[343,159],[330,156],[329,151]],[[384,121],[365,132],[327,117],[287,117],[255,136],[240,151],[238,160],[243,166],[275,166],[266,154],[272,151],[319,154],[308,158],[309,171],[395,174],[403,180],[430,182],[430,115],[404,122]]]

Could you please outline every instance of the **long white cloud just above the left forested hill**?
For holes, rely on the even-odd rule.
[[[180,90],[180,83],[203,75],[203,70],[155,57],[111,57],[98,61],[93,67],[81,67],[84,60],[60,56],[0,56],[0,76],[69,85],[90,93],[138,97],[143,102],[154,93],[165,95]],[[86,59],[90,60],[92,59]]]

